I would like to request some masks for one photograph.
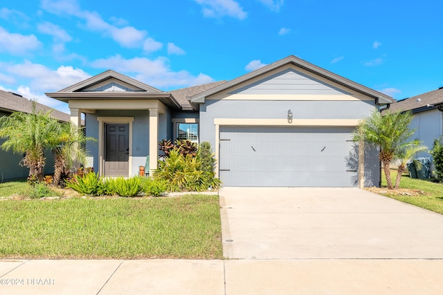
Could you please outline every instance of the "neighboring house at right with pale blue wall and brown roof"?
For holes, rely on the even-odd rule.
[[[413,139],[419,139],[429,149],[434,139],[443,134],[443,87],[403,99],[390,105],[386,112],[412,111],[414,118],[410,128],[415,129]],[[429,153],[418,153],[417,157],[431,157]]]

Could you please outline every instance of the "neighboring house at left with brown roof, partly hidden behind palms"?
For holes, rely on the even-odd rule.
[[[43,104],[36,103],[37,111],[51,111],[53,117],[59,121],[69,122],[70,116],[61,111],[54,110]],[[9,93],[0,90],[0,117],[8,116],[15,111],[32,113],[32,102],[17,93]],[[0,139],[0,145],[4,140]],[[54,158],[50,151],[45,151],[46,165],[44,172],[51,174],[54,172]],[[16,178],[27,178],[29,169],[20,166],[19,163],[23,155],[12,153],[12,151],[3,151],[0,149],[0,181],[13,180]]]

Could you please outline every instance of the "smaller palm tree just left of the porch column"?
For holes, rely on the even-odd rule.
[[[85,164],[87,151],[84,144],[92,137],[86,137],[83,129],[78,129],[71,122],[57,125],[55,137],[51,139],[51,149],[54,154],[53,184],[64,185],[63,180],[69,175],[75,163]]]

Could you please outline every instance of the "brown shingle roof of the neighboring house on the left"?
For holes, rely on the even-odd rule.
[[[45,106],[44,104],[36,103],[37,111],[44,111],[45,113],[51,111],[53,117],[57,120],[69,122],[71,120],[71,116],[63,113],[61,111],[57,111],[49,106]],[[32,103],[30,100],[22,97],[21,95],[17,95],[15,93],[9,93],[6,91],[0,90],[0,109],[8,111],[8,112],[24,112],[24,113],[32,113]]]

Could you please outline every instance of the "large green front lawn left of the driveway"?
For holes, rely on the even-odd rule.
[[[222,258],[218,196],[5,200],[0,216],[0,258]]]

